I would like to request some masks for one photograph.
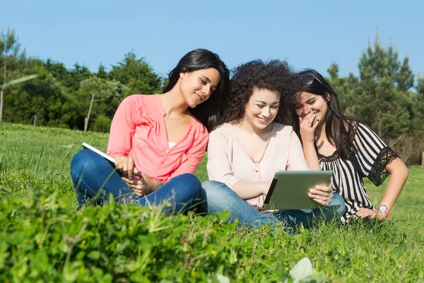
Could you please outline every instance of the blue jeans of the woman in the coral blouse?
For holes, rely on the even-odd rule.
[[[89,200],[95,204],[107,202],[112,194],[117,202],[135,205],[158,206],[169,202],[170,206],[163,207],[167,213],[185,212],[194,207],[198,212],[206,212],[205,192],[193,174],[178,175],[151,194],[139,197],[105,158],[83,149],[73,156],[71,178],[80,208]]]

